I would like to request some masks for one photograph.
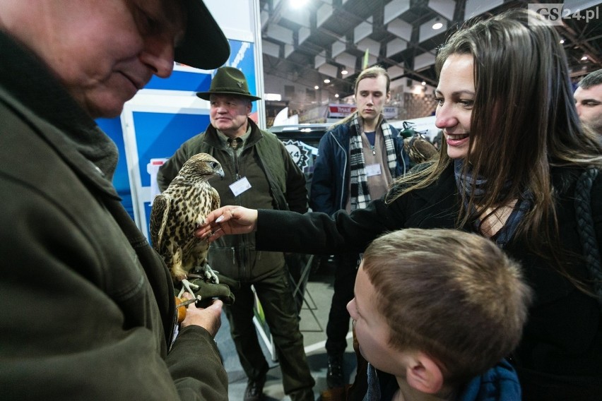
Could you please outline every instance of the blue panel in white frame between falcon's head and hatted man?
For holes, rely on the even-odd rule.
[[[205,131],[209,116],[134,112],[136,146],[142,186],[151,186],[146,164],[155,157],[171,157],[184,141]]]

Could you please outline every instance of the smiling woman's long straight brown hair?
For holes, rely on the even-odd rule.
[[[560,37],[536,14],[513,9],[469,21],[449,37],[437,54],[437,74],[451,54],[474,57],[476,95],[463,174],[470,166],[474,176],[487,179],[485,196],[478,202],[461,193],[457,225],[464,227],[483,210],[521,198],[528,188],[532,208],[516,235],[550,258],[550,249],[558,249],[550,168],[602,167],[601,141],[579,122]],[[438,159],[416,174],[399,178],[387,202],[433,184],[451,162],[443,140]],[[564,270],[559,254],[551,258]]]

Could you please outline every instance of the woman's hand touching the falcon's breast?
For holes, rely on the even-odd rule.
[[[225,234],[248,234],[257,227],[257,210],[242,206],[223,206],[206,215],[194,235],[213,242]]]

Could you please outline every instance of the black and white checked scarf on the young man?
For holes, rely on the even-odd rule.
[[[382,119],[380,128],[384,138],[386,148],[386,161],[389,166],[391,176],[395,176],[397,166],[397,157],[395,155],[395,145],[391,126]],[[378,131],[378,130],[377,130]],[[351,120],[352,135],[349,138],[349,169],[351,178],[350,201],[351,210],[365,208],[370,203],[370,193],[368,191],[368,182],[366,178],[364,147],[362,145],[362,130],[360,121],[356,113]]]

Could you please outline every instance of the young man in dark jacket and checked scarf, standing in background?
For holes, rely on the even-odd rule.
[[[358,110],[332,126],[320,140],[309,199],[312,210],[331,215],[341,209],[364,208],[371,199],[384,195],[395,177],[405,174],[410,160],[403,151],[403,138],[382,115],[389,97],[389,75],[384,68],[366,68],[355,80]],[[346,305],[353,298],[358,259],[358,253],[335,256],[334,294],[326,325],[329,388],[345,384]]]

